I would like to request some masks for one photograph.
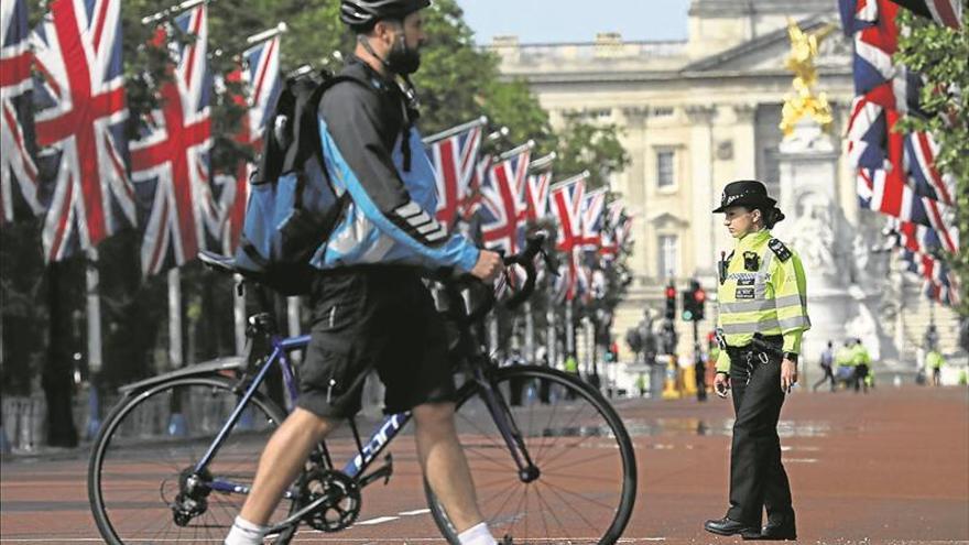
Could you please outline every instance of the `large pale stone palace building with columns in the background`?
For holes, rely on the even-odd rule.
[[[682,290],[696,277],[708,293],[716,291],[719,252],[732,246],[719,217],[710,214],[723,186],[756,177],[772,194],[780,192],[779,123],[792,89],[792,75],[784,68],[791,50],[788,18],[805,32],[818,32],[838,24],[835,10],[830,0],[694,0],[685,41],[632,42],[599,33],[591,43],[523,44],[515,36],[500,36],[487,46],[500,56],[504,77],[529,81],[554,124],[565,115],[580,113],[623,129],[632,162],[613,175],[611,189],[621,193],[635,214],[630,261],[635,282],[617,316],[617,337],[639,323],[645,308],[662,310],[662,286],[668,280]],[[852,262],[852,271],[842,274],[851,274],[851,283],[862,292],[858,297],[875,308],[875,324],[868,319],[868,329],[879,329],[874,335],[897,345],[883,356],[911,359],[903,356],[911,356],[919,342],[927,310],[919,314],[926,317],[916,320],[917,326],[883,321],[900,320],[903,307],[927,307],[914,293],[917,282],[895,274],[900,295],[883,301],[883,288],[865,285],[868,265],[854,263],[850,254],[851,244],[877,241],[883,219],[860,212],[853,172],[840,142],[853,87],[851,44],[839,29],[823,41],[816,64],[819,90],[827,94],[835,113],[832,206],[842,221],[837,237],[848,248],[843,258]],[[790,217],[791,210],[785,214]],[[864,233],[860,241],[854,240],[858,232]],[[708,318],[712,314],[708,305]],[[945,310],[937,314],[946,346],[954,348],[955,320]],[[692,333],[682,323],[677,328],[679,351],[689,353]],[[709,319],[700,324],[700,331],[711,328]]]

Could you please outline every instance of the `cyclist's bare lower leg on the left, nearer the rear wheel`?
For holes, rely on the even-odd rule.
[[[304,408],[296,407],[290,413],[259,458],[252,490],[239,516],[252,524],[265,525],[286,487],[303,469],[309,451],[338,425],[339,421],[322,418]]]

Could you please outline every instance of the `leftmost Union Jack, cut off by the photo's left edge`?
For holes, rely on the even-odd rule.
[[[43,211],[37,195],[37,167],[31,108],[31,59],[26,1],[0,3],[0,225],[14,210]],[[24,208],[18,205],[24,205]]]

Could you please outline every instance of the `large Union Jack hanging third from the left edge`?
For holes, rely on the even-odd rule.
[[[156,274],[194,259],[208,246],[207,232],[218,231],[218,208],[209,184],[211,146],[208,70],[208,10],[192,8],[174,20],[175,29],[160,30],[161,43],[170,32],[194,36],[176,45],[173,79],[160,89],[164,109],[155,110],[142,137],[131,143],[131,177],[139,194],[151,203],[141,244],[144,274]]]

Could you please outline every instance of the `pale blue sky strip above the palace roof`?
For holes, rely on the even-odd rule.
[[[515,34],[520,43],[686,40],[689,0],[457,0],[478,44]]]

